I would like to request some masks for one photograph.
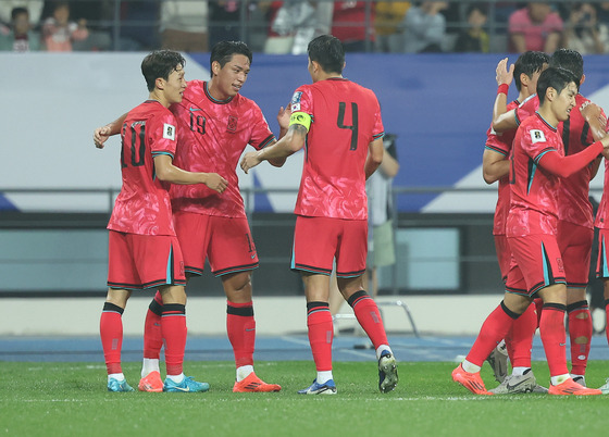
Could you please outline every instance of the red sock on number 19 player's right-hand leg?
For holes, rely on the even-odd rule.
[[[233,346],[235,365],[253,365],[256,344],[256,320],[253,304],[226,301],[226,333]]]

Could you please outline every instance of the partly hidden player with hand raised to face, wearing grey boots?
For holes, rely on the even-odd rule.
[[[512,110],[518,108],[520,102],[523,102],[536,92],[537,79],[542,71],[547,67],[549,57],[543,52],[527,51],[518,58],[513,68],[510,70],[506,68],[507,61],[507,58],[499,61],[496,73],[497,83],[500,86],[498,92],[502,95],[501,97],[507,96],[509,84],[513,78],[519,96],[517,100],[507,104],[507,109]],[[511,251],[506,236],[506,222],[510,210],[509,155],[514,136],[515,129],[497,134],[490,127],[487,132],[487,140],[482,158],[484,180],[487,184],[499,182],[493,235],[504,283],[508,276],[511,260]],[[515,387],[518,392],[547,391],[536,384],[535,377],[531,372],[531,348],[533,334],[536,328],[535,307],[531,304],[518,321],[514,322],[506,336],[506,341],[502,341],[495,348],[487,358],[495,372],[495,378],[501,383],[492,390],[494,394],[508,392],[508,387]],[[510,357],[513,367],[511,376],[507,376],[507,355]],[[517,380],[519,384],[514,384]]]

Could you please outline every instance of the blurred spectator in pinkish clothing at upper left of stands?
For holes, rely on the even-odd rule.
[[[89,36],[87,21],[70,21],[70,4],[65,1],[55,2],[52,15],[42,24],[42,40],[48,51],[72,51],[72,43],[83,41]]]

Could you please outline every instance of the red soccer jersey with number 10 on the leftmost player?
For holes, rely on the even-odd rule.
[[[173,158],[175,117],[157,100],[130,110],[121,129],[123,186],[108,228],[139,235],[175,235],[169,183],[157,179],[153,157]]]

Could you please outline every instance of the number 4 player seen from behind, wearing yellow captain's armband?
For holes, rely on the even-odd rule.
[[[300,271],[307,297],[309,342],[318,376],[301,395],[334,395],[330,275],[336,259],[338,289],[370,337],[378,360],[378,388],[398,383],[396,359],[374,300],[364,291],[368,245],[365,179],[383,160],[383,122],[376,96],[343,77],[345,49],[322,35],[309,42],[312,85],[296,89],[290,125],[276,145],[249,152],[241,168],[285,159],[304,147],[295,213],[293,270]]]

